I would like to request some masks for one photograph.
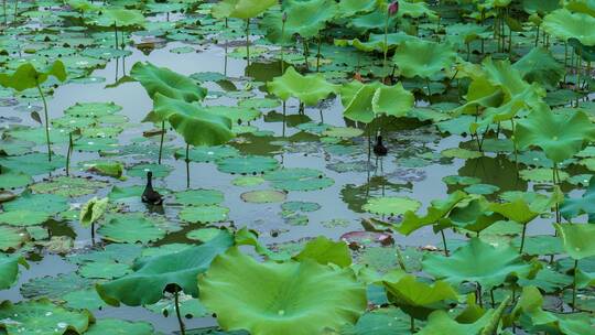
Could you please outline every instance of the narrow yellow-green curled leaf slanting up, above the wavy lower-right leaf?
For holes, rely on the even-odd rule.
[[[428,207],[428,214],[425,216],[420,217],[415,212],[408,210],[404,213],[403,220],[401,225],[397,227],[397,230],[407,236],[421,227],[436,224],[465,198],[467,198],[465,192],[455,191],[445,199],[432,201],[432,205]]]

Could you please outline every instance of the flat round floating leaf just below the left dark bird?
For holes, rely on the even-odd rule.
[[[165,230],[142,215],[121,215],[111,218],[97,230],[104,239],[115,242],[148,244],[165,236]]]

